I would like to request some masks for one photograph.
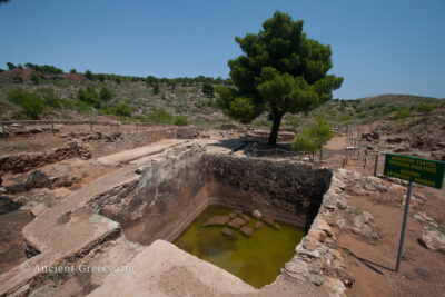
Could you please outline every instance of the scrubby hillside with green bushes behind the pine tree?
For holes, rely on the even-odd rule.
[[[38,81],[30,79],[32,73],[39,76]],[[18,80],[18,76],[22,79]],[[175,119],[180,117],[182,125],[217,127],[225,122],[236,123],[219,110],[217,98],[202,92],[205,83],[221,82],[225,81],[205,77],[157,79],[113,75],[92,75],[90,80],[80,73],[44,75],[32,69],[14,69],[0,73],[1,118],[3,120],[30,118],[23,112],[20,103],[13,102],[10,98],[11,93],[19,90],[52,102],[52,105],[47,103],[37,116],[41,119],[99,117],[174,123]],[[99,98],[103,90],[109,95],[106,99],[98,99],[99,103],[88,101]],[[85,98],[79,97],[79,91],[85,92]],[[49,99],[43,99],[43,97]],[[404,127],[411,128],[409,125],[402,125],[402,122],[412,115],[415,118],[427,118],[425,121],[439,120],[441,122],[441,118],[437,117],[442,117],[444,106],[444,99],[409,95],[379,95],[356,100],[335,99],[308,115],[286,115],[281,127],[298,130],[315,117],[323,117],[338,127],[395,121],[392,129],[403,131]],[[270,126],[268,115],[258,117],[253,126],[268,129]]]

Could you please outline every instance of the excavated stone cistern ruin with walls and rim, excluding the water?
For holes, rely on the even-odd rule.
[[[187,280],[181,288],[186,291],[261,293],[264,289],[257,290],[167,242],[172,242],[206,207],[212,205],[247,214],[260,210],[268,218],[307,231],[301,242],[295,242],[295,256],[281,268],[277,279],[266,286],[266,291],[285,286],[301,293],[315,283],[325,284],[324,291],[335,290],[342,295],[348,281],[344,277],[347,271],[342,268],[343,258],[335,251],[335,235],[325,217],[335,211],[344,189],[344,184],[326,168],[297,161],[212,154],[199,143],[177,146],[130,161],[111,176],[73,192],[27,225],[23,237],[32,257],[26,265],[31,267],[31,273],[20,273],[20,266],[3,274],[0,296],[30,291],[38,286],[42,274],[32,270],[36,265],[95,261],[89,255],[97,251],[105,253],[101,261],[107,265],[127,259],[126,265],[132,264],[135,269],[141,270],[136,278],[111,273],[90,279],[90,289],[82,295],[103,296],[113,291],[117,283],[123,281],[126,287],[135,288],[147,279],[154,285],[148,291],[156,294],[171,277],[169,274],[179,274],[184,269],[175,276],[196,278],[200,284],[188,284]],[[110,249],[102,248],[109,246],[107,242],[111,242],[111,251],[118,250],[112,253],[126,256],[106,257],[111,253],[103,251]],[[319,275],[320,267],[327,267],[325,276]],[[206,291],[208,287],[210,291]],[[139,289],[147,293],[144,286]]]

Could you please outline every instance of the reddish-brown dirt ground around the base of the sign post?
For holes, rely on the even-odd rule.
[[[444,192],[424,187],[414,187],[413,192],[427,197],[422,207],[426,214],[444,211]],[[445,255],[422,247],[424,225],[413,218],[419,211],[411,209],[400,270],[396,273],[396,257],[404,208],[399,197],[385,194],[360,196],[348,199],[352,206],[369,211],[380,228],[382,239],[367,242],[353,232],[342,230],[338,244],[348,251],[348,268],[355,278],[348,296],[445,296]],[[442,209],[437,206],[442,205]]]

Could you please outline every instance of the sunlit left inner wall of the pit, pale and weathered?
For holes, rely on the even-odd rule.
[[[122,187],[91,206],[119,221],[132,241],[174,240],[208,205],[205,168],[200,147],[176,148],[154,159],[134,190]]]

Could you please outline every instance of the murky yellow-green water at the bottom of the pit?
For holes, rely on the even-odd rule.
[[[245,226],[254,230],[251,237],[231,229],[237,237],[233,239],[221,234],[224,227],[202,226],[212,216],[228,216],[230,212],[230,208],[222,206],[207,207],[174,244],[256,288],[273,283],[285,263],[294,256],[295,247],[305,236],[304,230],[283,222],[279,222],[279,230],[265,222],[255,230],[257,220],[250,214],[246,214],[250,221]]]

